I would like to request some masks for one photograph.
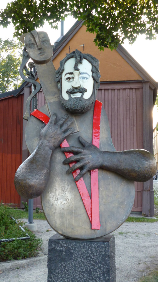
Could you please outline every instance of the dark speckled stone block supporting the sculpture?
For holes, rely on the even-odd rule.
[[[48,243],[48,282],[116,282],[115,237],[72,240],[56,234]]]

